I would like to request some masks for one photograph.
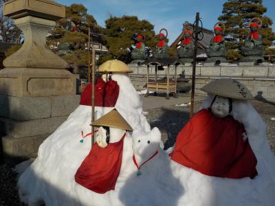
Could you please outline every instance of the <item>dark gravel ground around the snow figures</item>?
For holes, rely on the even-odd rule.
[[[195,111],[198,110],[201,102],[195,103]],[[267,138],[272,151],[275,153],[275,106],[259,101],[252,101],[254,108],[261,114],[267,124]],[[177,133],[189,119],[189,106],[166,106],[148,110],[146,115],[151,127],[157,126],[162,132],[164,147],[173,146]],[[17,191],[17,174],[12,171],[9,165],[0,163],[0,206],[23,205],[19,201]]]

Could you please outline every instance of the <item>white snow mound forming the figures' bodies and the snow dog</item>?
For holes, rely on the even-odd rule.
[[[232,115],[242,122],[258,159],[255,179],[222,179],[203,175],[170,161],[157,128],[150,129],[142,102],[129,78],[113,75],[120,86],[115,108],[134,128],[124,139],[122,166],[115,190],[96,194],[78,185],[74,174],[91,149],[91,138],[80,143],[81,131],[91,129],[90,106],[78,106],[39,148],[34,163],[19,178],[21,200],[28,205],[274,205],[275,158],[267,144],[265,124],[248,102],[233,102]],[[208,97],[201,108],[208,108]],[[112,108],[96,107],[96,117]],[[111,137],[115,131],[110,130]],[[119,138],[119,137],[118,137]],[[155,152],[157,151],[156,155]],[[147,161],[137,175],[137,165]],[[155,155],[155,156],[154,156]],[[151,158],[153,157],[153,158]]]

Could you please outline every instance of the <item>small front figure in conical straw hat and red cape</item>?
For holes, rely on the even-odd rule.
[[[75,181],[103,194],[115,190],[122,164],[124,137],[127,130],[133,129],[116,109],[100,117],[93,125],[99,126],[96,143],[78,168]]]

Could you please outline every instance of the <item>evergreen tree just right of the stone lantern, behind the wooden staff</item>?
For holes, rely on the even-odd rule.
[[[73,68],[73,73],[85,74],[79,69],[85,69],[88,65],[89,27],[91,28],[91,41],[104,43],[101,35],[102,28],[96,23],[96,19],[87,14],[87,8],[84,5],[73,3],[66,7],[65,18],[56,22],[52,35],[47,38],[48,45],[59,43],[58,54]],[[81,78],[86,77],[86,74],[81,76]]]

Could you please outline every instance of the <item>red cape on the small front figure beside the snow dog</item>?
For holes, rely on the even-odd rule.
[[[76,183],[100,194],[115,190],[115,183],[120,174],[125,135],[126,133],[120,141],[109,143],[106,148],[94,144],[74,176]]]

